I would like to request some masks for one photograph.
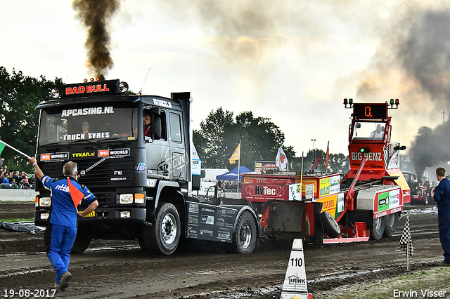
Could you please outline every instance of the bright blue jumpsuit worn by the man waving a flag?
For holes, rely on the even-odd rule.
[[[70,197],[68,180],[58,180],[45,175],[41,179],[42,185],[51,192],[50,224],[46,228],[47,256],[55,268],[55,282],[60,284],[61,275],[68,271],[70,251],[77,236],[77,209]],[[86,187],[79,185],[75,178],[70,182],[83,192],[82,202],[91,204],[95,200]]]

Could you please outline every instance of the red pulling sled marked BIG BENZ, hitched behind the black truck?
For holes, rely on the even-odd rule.
[[[349,125],[350,171],[341,173],[268,172],[243,174],[243,197],[259,215],[264,234],[296,234],[309,244],[378,240],[397,229],[411,191],[400,171],[399,152],[391,141],[385,103],[354,103]]]

